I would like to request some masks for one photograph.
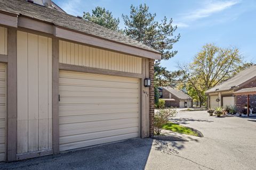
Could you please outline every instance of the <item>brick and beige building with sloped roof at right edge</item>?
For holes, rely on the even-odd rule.
[[[249,95],[249,106],[256,111],[256,65],[239,72],[233,78],[222,82],[205,93],[208,95],[208,106],[218,107],[231,105],[237,108],[237,113],[247,113],[247,99]]]

